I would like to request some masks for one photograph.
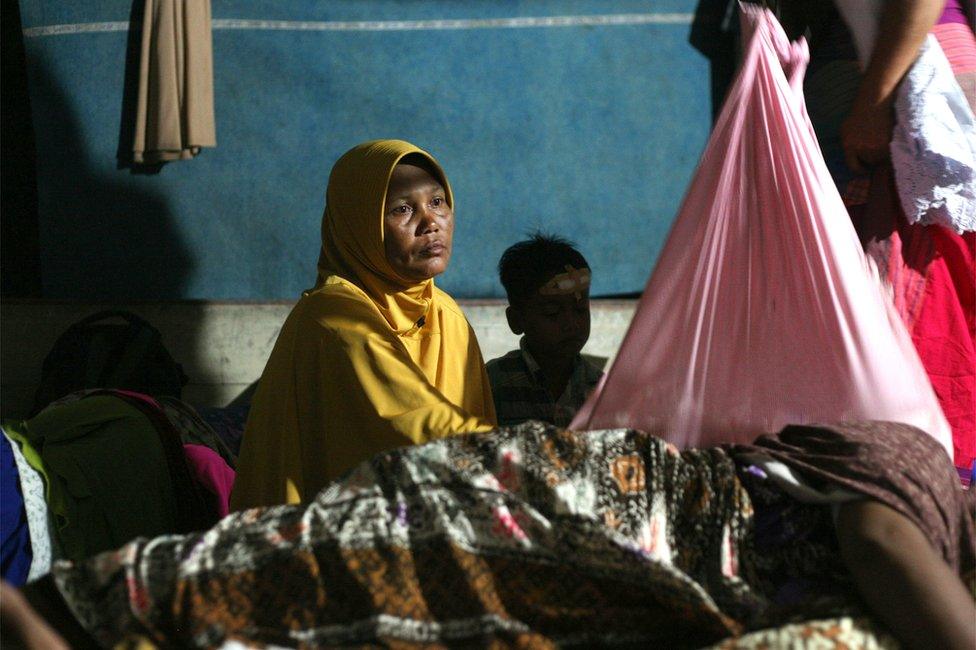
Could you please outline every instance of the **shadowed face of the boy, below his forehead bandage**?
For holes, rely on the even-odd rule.
[[[505,311],[509,327],[524,334],[532,355],[540,359],[575,358],[590,338],[589,287],[576,293],[529,298]]]

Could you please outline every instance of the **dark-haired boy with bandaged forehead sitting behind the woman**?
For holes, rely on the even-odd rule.
[[[498,263],[505,316],[519,349],[488,362],[500,426],[542,420],[568,426],[603,372],[580,350],[590,336],[590,267],[573,245],[536,233]]]

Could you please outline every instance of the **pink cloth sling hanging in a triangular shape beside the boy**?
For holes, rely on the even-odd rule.
[[[575,429],[679,447],[786,424],[895,420],[951,455],[949,426],[861,250],[803,103],[809,59],[743,5],[748,49],[603,383]]]

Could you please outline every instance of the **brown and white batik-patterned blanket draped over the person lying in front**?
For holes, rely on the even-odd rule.
[[[784,603],[777,576],[813,584],[839,570],[836,548],[757,547],[739,471],[720,448],[528,423],[382,454],[308,505],[236,513],[53,573],[106,645],[680,648],[862,613],[844,585]],[[833,537],[828,509],[797,507],[763,505]]]

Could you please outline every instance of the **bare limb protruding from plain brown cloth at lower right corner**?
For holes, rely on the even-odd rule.
[[[837,538],[858,592],[906,647],[976,647],[976,603],[907,517],[876,501],[845,503]]]

